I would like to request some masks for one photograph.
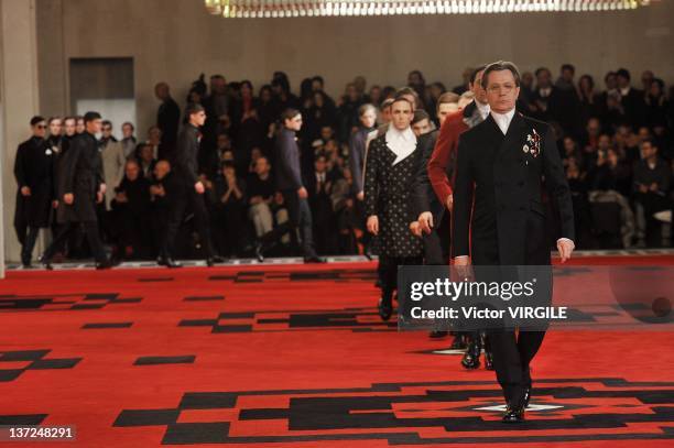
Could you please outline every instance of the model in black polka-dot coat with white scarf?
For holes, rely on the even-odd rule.
[[[414,105],[398,96],[391,105],[392,121],[385,134],[370,143],[366,164],[365,203],[368,231],[379,236],[382,296],[379,315],[389,320],[398,266],[422,264],[423,243],[409,230],[414,219],[409,207],[414,178],[416,136],[410,122]]]

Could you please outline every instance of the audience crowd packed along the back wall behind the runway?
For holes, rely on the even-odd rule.
[[[320,76],[304,79],[294,95],[282,72],[257,91],[248,80],[227,83],[214,75],[207,85],[202,75],[189,88],[184,111],[170,86],[159,83],[156,124],[144,138],[126,122],[118,140],[113,123],[105,120],[96,134],[106,188],[95,192],[100,197],[93,212],[102,243],[116,260],[159,256],[168,264],[174,258],[297,252],[307,261],[369,255],[378,244],[367,222],[373,207],[366,197],[368,147],[385,132],[394,99],[406,95],[411,100],[418,139],[443,118],[464,117],[478,101],[475,74],[466,69],[464,83],[452,89],[427,84],[418,70],[409,74],[402,89],[368,86],[358,76],[336,99],[325,92]],[[599,87],[589,75],[576,78],[569,64],[556,80],[542,67],[523,73],[520,83],[518,111],[555,131],[572,189],[576,247],[670,247],[671,225],[657,217],[672,208],[674,88],[667,91],[649,70],[633,86],[624,68],[608,73]],[[203,112],[203,123],[193,120],[195,111]],[[90,238],[84,242],[93,230],[75,226],[63,232],[58,219],[68,206],[62,197],[68,171],[59,161],[70,141],[88,132],[86,120],[35,117],[31,129],[15,163],[14,225],[22,262],[31,265],[40,228],[62,237],[50,259],[87,256],[99,250]],[[184,136],[185,129],[192,134]],[[193,139],[194,164],[185,160],[183,146],[189,144],[182,136]],[[203,192],[181,198],[167,181],[175,172],[187,177],[194,172],[189,182]],[[441,199],[442,209],[448,203],[446,196]],[[176,215],[175,201],[185,203],[180,220],[170,218]],[[425,225],[416,216],[405,220],[405,229]],[[436,225],[448,229],[442,221]]]

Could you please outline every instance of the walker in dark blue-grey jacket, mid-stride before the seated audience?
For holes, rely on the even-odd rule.
[[[276,136],[274,155],[276,161],[276,188],[283,195],[283,203],[287,209],[289,220],[278,226],[261,238],[256,249],[258,260],[263,259],[264,250],[271,243],[281,239],[290,232],[291,239],[296,238],[296,229],[302,233],[302,250],[305,263],[324,263],[314,249],[312,232],[312,210],[308,205],[308,192],[302,181],[300,168],[300,146],[296,141],[296,132],[302,129],[302,113],[297,109],[286,109],[281,114],[283,129]]]

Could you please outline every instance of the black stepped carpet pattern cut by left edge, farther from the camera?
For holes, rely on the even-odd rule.
[[[138,304],[142,297],[120,297],[119,293],[55,294],[55,295],[3,295],[0,296],[0,313],[18,310],[68,310],[101,309],[110,305]]]

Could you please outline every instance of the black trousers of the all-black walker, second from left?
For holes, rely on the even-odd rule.
[[[171,216],[166,223],[166,233],[164,234],[160,255],[172,258],[173,244],[185,217],[185,210],[191,209],[194,214],[194,227],[199,234],[202,247],[206,251],[206,256],[213,256],[215,251],[210,239],[210,225],[208,222],[208,210],[206,210],[204,195],[199,195],[194,188],[189,188],[188,186],[184,188],[187,189],[184,199],[181,198],[172,204],[173,209],[171,210]]]

